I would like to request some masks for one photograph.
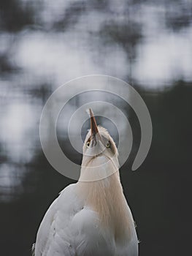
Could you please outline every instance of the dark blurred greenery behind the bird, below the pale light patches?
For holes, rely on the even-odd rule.
[[[178,81],[166,91],[140,93],[153,121],[153,143],[139,170],[131,172],[130,162],[121,168],[124,192],[142,241],[140,255],[185,254],[188,246],[183,248],[178,242],[184,232],[186,243],[191,237],[190,230],[185,229],[190,217],[185,208],[191,186],[192,86]],[[130,159],[133,158],[131,154]],[[61,189],[74,182],[53,170],[42,151],[37,152],[26,169],[21,184],[23,193],[15,200],[0,203],[4,255],[30,255],[29,249],[48,206]]]

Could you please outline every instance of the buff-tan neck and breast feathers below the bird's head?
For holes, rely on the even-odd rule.
[[[85,205],[90,206],[99,214],[103,225],[112,228],[116,240],[128,237],[129,213],[123,189],[120,184],[119,172],[98,181],[78,181],[80,195]]]

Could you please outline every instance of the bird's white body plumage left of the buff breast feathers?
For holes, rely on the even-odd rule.
[[[47,210],[37,233],[35,256],[115,255],[95,211],[85,206],[76,185],[66,187]]]

